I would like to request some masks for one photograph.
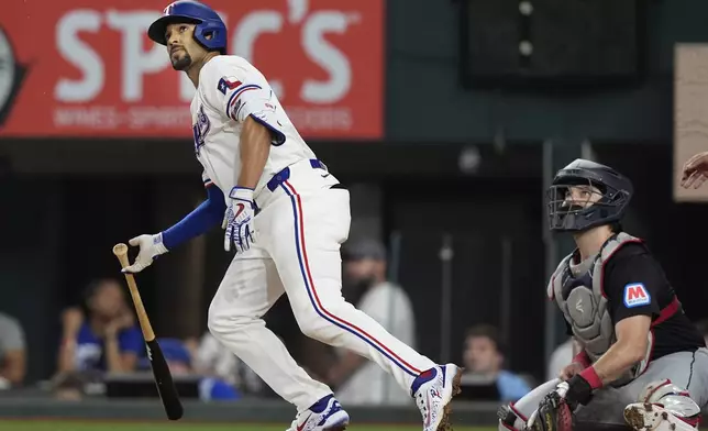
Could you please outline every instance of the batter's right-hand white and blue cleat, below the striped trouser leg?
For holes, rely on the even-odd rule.
[[[463,368],[455,364],[439,365],[420,374],[411,391],[423,417],[423,431],[451,429],[450,401],[460,394]]]

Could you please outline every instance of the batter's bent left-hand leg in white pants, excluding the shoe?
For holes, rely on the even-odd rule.
[[[306,410],[332,390],[295,362],[262,317],[283,295],[283,284],[267,254],[252,247],[237,255],[209,307],[209,330],[275,393]]]

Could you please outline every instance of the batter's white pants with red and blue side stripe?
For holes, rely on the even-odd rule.
[[[410,390],[435,364],[389,334],[341,294],[340,245],[350,195],[317,161],[274,176],[256,197],[255,244],[237,254],[209,307],[209,330],[287,401],[303,411],[332,390],[310,378],[263,316],[285,291],[300,330],[376,362]]]

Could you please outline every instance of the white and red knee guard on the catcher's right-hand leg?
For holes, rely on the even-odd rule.
[[[700,422],[700,407],[667,378],[646,385],[638,401],[624,408],[624,420],[634,429],[693,431]]]

